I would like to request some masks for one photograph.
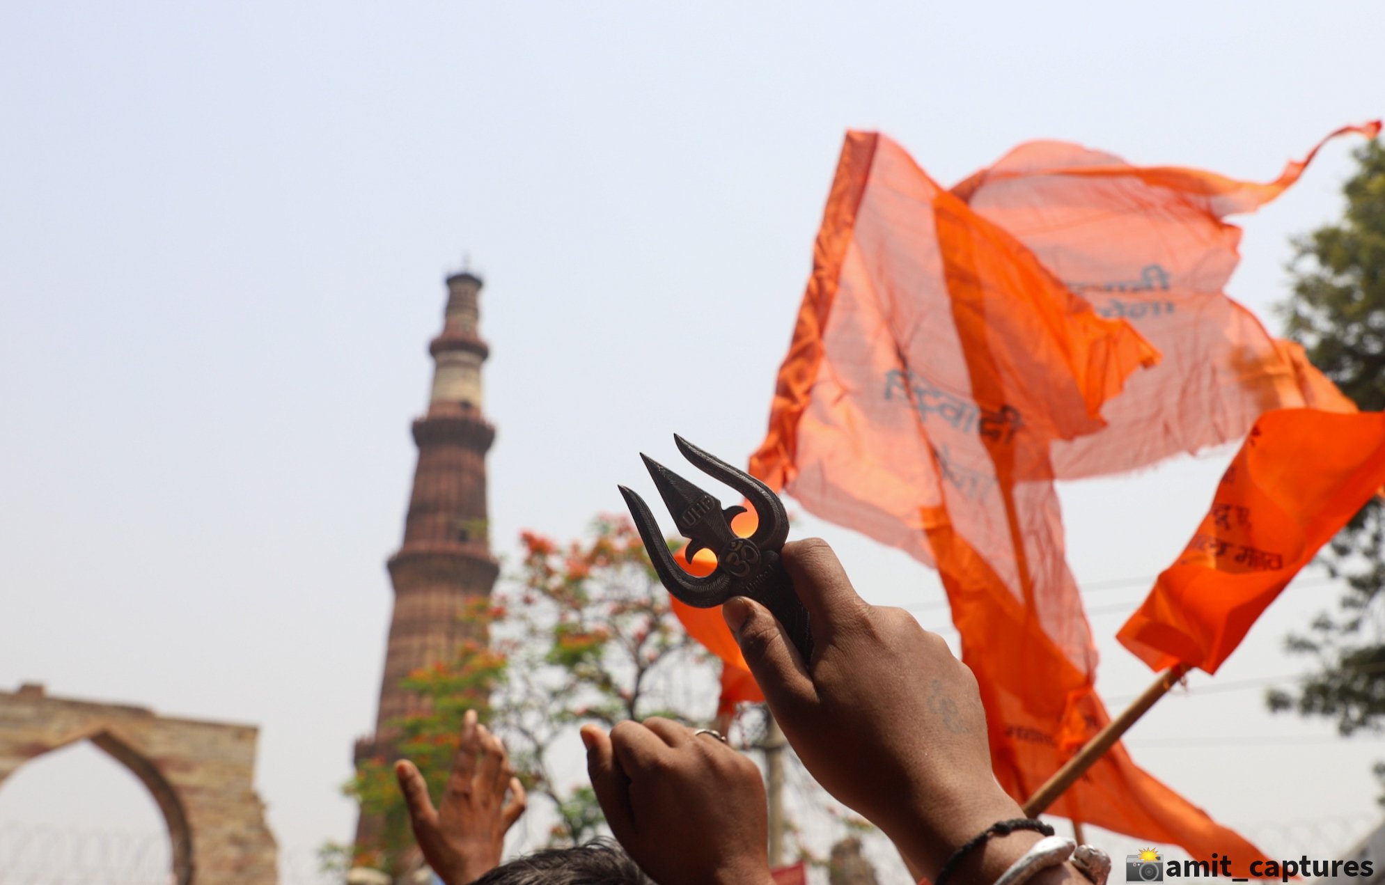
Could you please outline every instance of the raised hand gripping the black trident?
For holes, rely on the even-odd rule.
[[[1024,817],[992,776],[976,679],[942,637],[861,600],[825,542],[789,543],[783,555],[812,618],[812,661],[758,602],[737,597],[722,612],[813,777],[928,877],[990,824]],[[994,881],[1035,841],[993,839],[958,873]]]

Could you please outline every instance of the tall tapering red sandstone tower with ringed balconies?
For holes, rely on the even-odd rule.
[[[482,281],[474,273],[447,277],[442,334],[432,339],[432,395],[414,421],[418,468],[404,517],[404,543],[389,558],[395,611],[379,684],[375,733],[356,742],[356,760],[391,756],[389,723],[424,712],[425,701],[399,681],[413,670],[456,659],[475,627],[463,623],[468,600],[490,594],[500,571],[486,528],[486,450],[496,429],[486,422],[481,364],[489,348],[476,331]],[[361,817],[356,842],[378,821]]]

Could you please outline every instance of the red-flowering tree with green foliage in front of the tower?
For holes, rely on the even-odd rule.
[[[377,845],[356,846],[356,863],[392,875],[413,863],[393,759],[413,760],[436,802],[470,708],[506,741],[530,807],[546,801],[555,813],[548,845],[580,843],[605,827],[586,771],[575,781],[555,769],[555,756],[580,758],[553,752],[561,742],[580,747],[580,724],[711,717],[716,668],[674,618],[627,521],[600,518],[590,539],[565,546],[530,532],[521,542],[518,572],[464,615],[476,638],[457,661],[404,680],[427,712],[393,723],[396,755],[357,765],[346,792],[382,817],[385,831]]]

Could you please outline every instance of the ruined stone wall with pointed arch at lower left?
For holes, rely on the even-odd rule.
[[[157,716],[120,704],[50,698],[43,686],[0,691],[0,789],[19,766],[91,741],[154,796],[173,845],[177,885],[274,885],[278,848],[255,795],[259,730]]]

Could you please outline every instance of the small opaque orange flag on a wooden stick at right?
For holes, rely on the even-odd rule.
[[[1265,413],[1192,540],[1116,638],[1155,670],[1181,662],[1215,673],[1382,483],[1385,413]]]

